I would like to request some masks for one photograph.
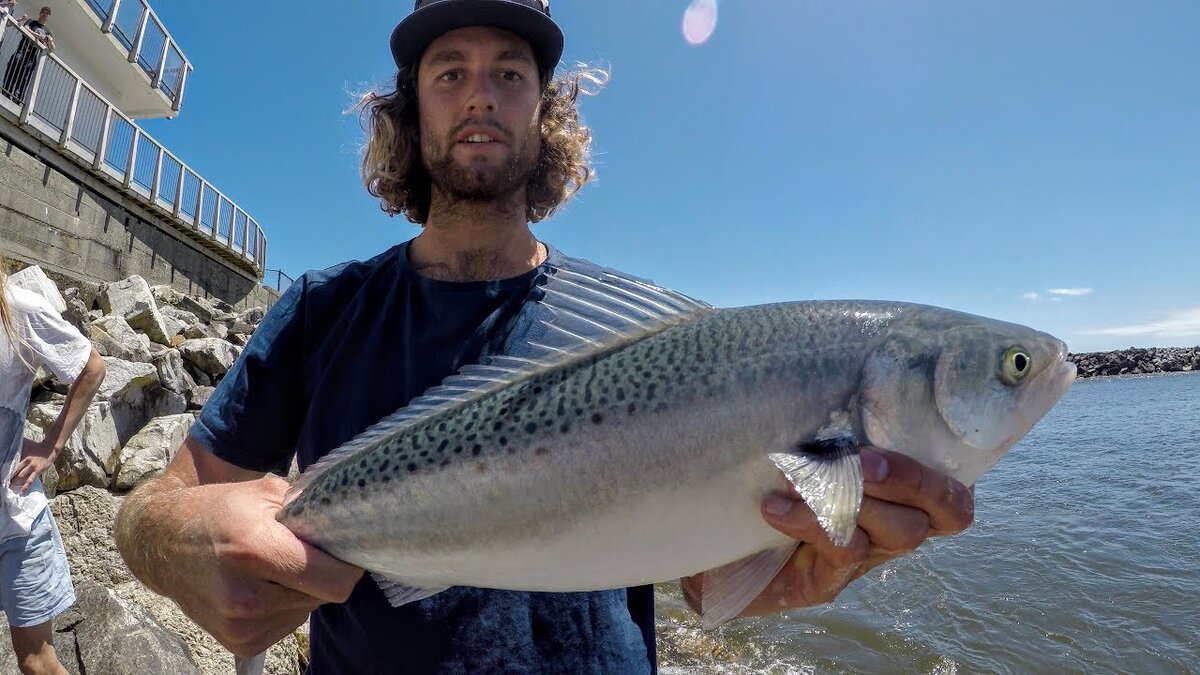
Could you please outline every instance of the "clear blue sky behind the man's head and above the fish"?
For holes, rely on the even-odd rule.
[[[394,77],[410,1],[152,6],[194,71],[143,127],[259,222],[268,268],[419,233],[362,189],[346,114]],[[889,299],[1075,352],[1200,345],[1200,2],[552,10],[563,66],[611,73],[581,103],[596,180],[534,228],[559,250],[718,306]]]

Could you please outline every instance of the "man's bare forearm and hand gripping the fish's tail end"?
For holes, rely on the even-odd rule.
[[[126,497],[116,546],[133,574],[239,656],[260,653],[362,571],[298,539],[275,515],[288,483],[229,464],[192,438]]]

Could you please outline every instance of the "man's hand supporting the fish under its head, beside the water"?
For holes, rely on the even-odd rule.
[[[800,546],[742,616],[830,602],[854,579],[929,537],[971,525],[974,494],[958,480],[888,450],[864,449],[862,459],[863,506],[848,546],[834,545],[797,495],[772,495],[763,502],[767,522],[798,539]],[[703,574],[680,584],[695,608],[703,593]]]

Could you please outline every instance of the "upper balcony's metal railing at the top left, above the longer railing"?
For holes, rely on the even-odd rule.
[[[101,30],[125,47],[130,62],[150,76],[151,85],[178,110],[192,64],[146,0],[88,0],[88,7],[100,18]]]

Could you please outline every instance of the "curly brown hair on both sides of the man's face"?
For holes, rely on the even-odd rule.
[[[546,82],[541,92],[541,154],[526,192],[526,219],[540,222],[593,179],[592,131],[583,125],[576,101],[595,94],[608,80],[599,68],[580,66]],[[421,160],[416,108],[416,73],[403,67],[395,89],[371,92],[358,108],[367,131],[362,183],[389,215],[404,214],[424,225],[430,217],[432,183]]]

